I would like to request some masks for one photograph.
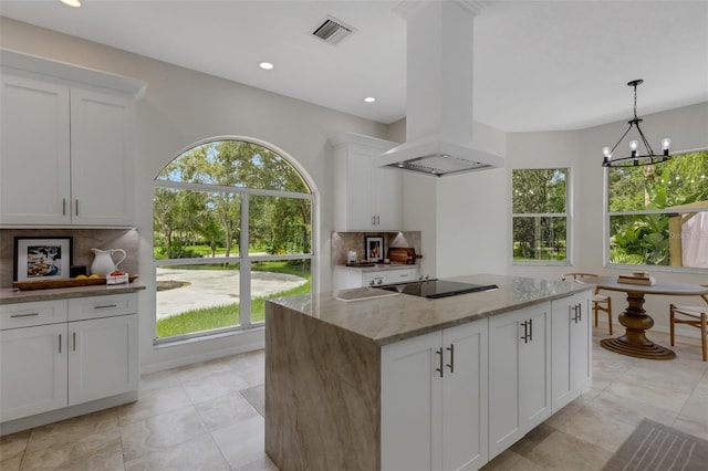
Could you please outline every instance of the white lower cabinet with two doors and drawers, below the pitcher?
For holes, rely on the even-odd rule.
[[[137,294],[0,306],[0,421],[137,390]]]

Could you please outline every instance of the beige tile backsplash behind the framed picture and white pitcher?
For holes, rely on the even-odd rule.
[[[138,274],[139,237],[135,229],[0,229],[0,287],[12,287],[15,237],[72,237],[72,264],[85,265],[87,272],[93,263],[91,249],[123,249],[126,257],[119,269]]]

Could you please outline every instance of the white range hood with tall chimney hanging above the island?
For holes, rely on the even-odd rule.
[[[483,2],[406,1],[406,143],[376,157],[392,167],[444,177],[503,167],[472,143],[473,20]]]

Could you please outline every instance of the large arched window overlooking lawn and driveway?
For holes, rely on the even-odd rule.
[[[221,138],[155,179],[156,343],[264,322],[264,300],[311,291],[314,197],[283,156]]]

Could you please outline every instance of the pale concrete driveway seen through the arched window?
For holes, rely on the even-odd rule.
[[[199,307],[212,307],[239,301],[239,274],[233,270],[157,269],[157,281],[190,284],[157,292],[157,318],[169,317]],[[308,280],[272,272],[251,272],[251,296],[262,297],[298,287]]]

